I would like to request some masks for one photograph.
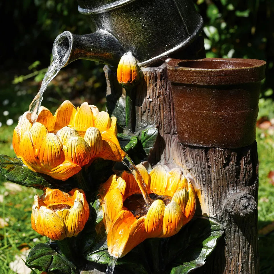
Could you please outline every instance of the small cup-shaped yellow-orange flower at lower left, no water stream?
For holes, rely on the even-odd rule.
[[[31,227],[52,240],[77,236],[84,228],[89,216],[89,207],[83,190],[74,188],[70,192],[49,189],[39,198],[34,196]]]

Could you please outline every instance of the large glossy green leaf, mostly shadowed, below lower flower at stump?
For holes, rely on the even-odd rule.
[[[205,264],[222,236],[223,227],[212,219],[199,217],[168,238],[164,259],[171,274],[185,274]]]

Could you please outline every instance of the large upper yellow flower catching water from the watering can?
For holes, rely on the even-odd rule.
[[[76,109],[65,101],[54,116],[45,107],[36,119],[25,112],[15,127],[13,148],[31,170],[67,180],[95,157],[122,161],[125,153],[116,136],[115,117],[86,102]]]

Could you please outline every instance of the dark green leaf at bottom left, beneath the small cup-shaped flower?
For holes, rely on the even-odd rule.
[[[27,267],[36,268],[40,271],[49,271],[53,273],[77,274],[75,265],[66,257],[57,253],[47,243],[39,243],[30,251],[26,260]]]

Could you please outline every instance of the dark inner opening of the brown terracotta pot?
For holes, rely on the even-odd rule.
[[[253,64],[235,61],[220,61],[220,60],[199,60],[199,61],[182,61],[179,62],[180,67],[187,68],[207,68],[207,69],[222,69],[222,68],[245,68],[254,67]]]

